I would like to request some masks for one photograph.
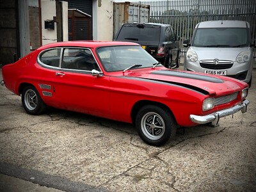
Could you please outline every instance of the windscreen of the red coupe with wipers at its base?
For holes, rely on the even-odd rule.
[[[141,46],[99,47],[96,52],[102,67],[108,72],[125,70],[132,65],[136,68],[153,67],[158,63]]]

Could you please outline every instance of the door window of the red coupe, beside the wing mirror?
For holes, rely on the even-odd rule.
[[[90,49],[65,48],[61,68],[72,70],[99,70],[95,58]]]

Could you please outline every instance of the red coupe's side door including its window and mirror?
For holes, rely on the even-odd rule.
[[[64,109],[108,118],[109,77],[92,76],[93,69],[101,71],[90,49],[64,48],[55,94]]]

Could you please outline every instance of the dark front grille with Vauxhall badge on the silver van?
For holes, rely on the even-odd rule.
[[[214,60],[202,60],[199,62],[202,68],[209,69],[227,69],[233,66],[233,61],[219,60],[218,64],[214,64]]]

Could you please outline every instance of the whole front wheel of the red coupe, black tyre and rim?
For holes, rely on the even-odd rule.
[[[135,125],[141,140],[153,146],[163,145],[175,136],[177,130],[173,115],[167,109],[153,105],[138,111]]]

